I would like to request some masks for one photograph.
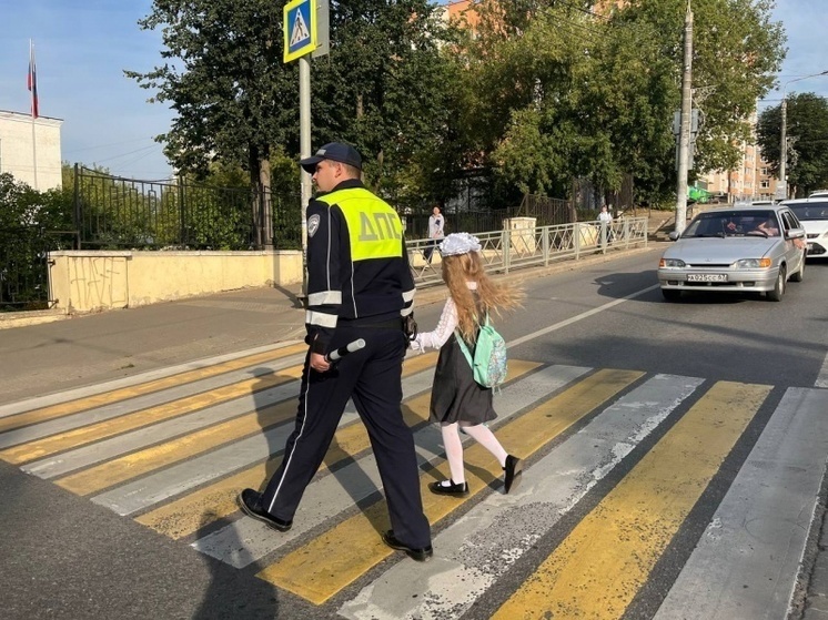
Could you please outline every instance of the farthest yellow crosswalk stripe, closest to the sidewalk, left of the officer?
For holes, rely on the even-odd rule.
[[[97,394],[87,398],[79,398],[69,403],[61,403],[59,405],[51,405],[49,407],[42,407],[40,409],[16,414],[12,416],[0,418],[0,433],[4,433],[7,430],[20,428],[23,426],[31,426],[32,424],[39,424],[41,421],[69,416],[98,407],[103,407],[104,405],[111,405],[112,403],[128,400],[130,398],[143,396],[153,392],[161,392],[162,389],[178,387],[188,383],[193,383],[224,373],[230,373],[232,370],[246,368],[248,366],[254,366],[275,359],[281,359],[283,357],[303,353],[305,350],[307,350],[307,345],[304,343],[299,345],[290,345],[265,353],[240,357],[239,359],[224,362],[214,366],[208,366],[205,368],[199,368],[196,370],[188,370],[185,373],[172,375],[162,379],[154,379],[139,385],[113,389],[112,392],[105,392],[103,394]]]

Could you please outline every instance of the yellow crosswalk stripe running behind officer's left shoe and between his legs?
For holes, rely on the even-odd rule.
[[[403,377],[425,370],[433,366],[436,359],[436,353],[407,358],[403,366]],[[417,398],[422,399],[423,396],[421,395],[412,400],[416,400]],[[412,406],[415,409],[421,409],[421,405],[406,402],[403,404],[403,410],[407,411]],[[425,406],[425,414],[427,416],[427,402]],[[294,414],[295,409],[296,400],[293,400]],[[422,415],[417,418],[417,421],[422,421]],[[361,433],[364,433],[364,427],[361,423],[339,429],[336,431],[336,446],[332,446],[327,455],[325,455],[321,470],[365,449],[367,447],[367,439],[361,440]],[[213,485],[203,487],[170,504],[141,515],[135,520],[176,540],[190,536],[212,522],[212,520],[221,519],[235,512],[239,509],[235,504],[235,496],[239,495],[239,491],[244,488],[261,488],[276,470],[280,461],[281,456],[272,458],[266,463],[260,463],[229,478],[224,478]]]

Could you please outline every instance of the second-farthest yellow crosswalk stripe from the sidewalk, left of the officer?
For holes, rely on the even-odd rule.
[[[194,394],[186,398],[165,403],[142,411],[134,411],[110,420],[104,420],[73,430],[67,430],[59,435],[36,439],[27,444],[20,444],[0,450],[0,458],[13,464],[27,463],[43,458],[44,456],[69,450],[93,441],[113,437],[135,428],[149,426],[165,419],[183,416],[204,407],[225,403],[242,396],[249,396],[254,392],[261,392],[270,387],[285,384],[302,376],[302,366],[283,368],[273,375],[263,375],[254,379],[246,379],[236,384],[228,385]]]

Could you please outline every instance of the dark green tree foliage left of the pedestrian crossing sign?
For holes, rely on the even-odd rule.
[[[282,8],[265,0],[155,0],[141,20],[162,29],[163,67],[127,71],[176,112],[159,136],[182,171],[205,174],[220,160],[244,165],[270,187],[270,154],[295,144],[297,73],[282,62]]]

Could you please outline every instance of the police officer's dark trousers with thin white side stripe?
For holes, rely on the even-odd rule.
[[[326,373],[310,368],[310,353],[305,358],[296,427],[287,438],[282,464],[264,490],[262,507],[279,519],[293,520],[352,398],[371,438],[391,529],[402,542],[424,548],[431,545],[428,520],[423,514],[414,437],[401,409],[407,344],[401,321],[366,325],[362,319],[341,319],[331,350],[359,338],[365,341],[365,348],[343,356]]]

